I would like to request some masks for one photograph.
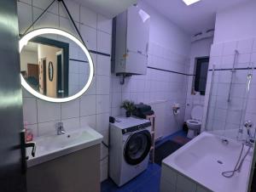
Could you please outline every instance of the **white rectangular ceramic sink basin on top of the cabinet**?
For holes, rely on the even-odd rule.
[[[73,132],[48,137],[38,137],[36,142],[35,157],[31,155],[31,148],[27,148],[29,156],[27,167],[32,167],[45,161],[53,160],[61,155],[67,155],[77,150],[101,144],[102,135],[90,127],[79,128]]]

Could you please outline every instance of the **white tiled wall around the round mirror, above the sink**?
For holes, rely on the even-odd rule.
[[[51,0],[20,0],[18,2],[18,14],[20,33],[36,20]],[[76,21],[79,31],[89,49],[105,54],[110,54],[112,22],[101,14],[96,14],[73,1],[65,1],[73,19]],[[38,20],[32,28],[56,27],[73,33],[73,25],[67,19],[67,14],[61,3],[54,3],[42,19]],[[89,125],[102,133],[108,144],[108,116],[109,90],[110,90],[110,57],[92,54],[96,74],[88,92],[79,99],[63,104],[49,103],[33,97],[23,90],[24,121],[32,128],[35,136],[55,134],[55,123],[63,121],[66,130]],[[102,147],[102,158],[108,155],[108,150]],[[108,158],[104,158],[102,164],[102,180],[108,176]]]

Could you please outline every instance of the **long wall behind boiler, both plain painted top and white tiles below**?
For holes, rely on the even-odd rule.
[[[141,1],[138,6],[150,15],[148,67],[160,70],[148,68],[147,75],[128,77],[122,86],[119,77],[113,75],[111,112],[112,116],[122,114],[119,106],[125,99],[150,104],[156,115],[156,138],[160,138],[183,125],[188,79],[184,74],[188,68],[190,37],[147,3]],[[174,103],[181,106],[177,116],[172,113]]]

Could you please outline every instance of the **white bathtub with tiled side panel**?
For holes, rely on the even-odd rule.
[[[241,172],[224,178],[221,172],[231,171],[241,151],[241,143],[222,136],[201,133],[162,162],[161,192],[246,192],[253,150],[247,155]],[[246,153],[247,146],[243,152]]]

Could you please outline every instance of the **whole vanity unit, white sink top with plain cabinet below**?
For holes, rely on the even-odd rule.
[[[28,192],[100,192],[102,135],[90,127],[35,138],[27,149]]]

